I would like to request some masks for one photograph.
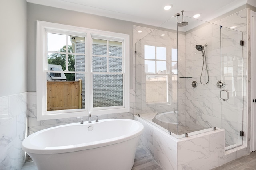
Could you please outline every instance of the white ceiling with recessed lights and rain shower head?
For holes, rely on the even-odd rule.
[[[74,10],[120,20],[159,26],[184,10],[184,16],[201,13],[209,21],[244,4],[256,7],[256,0],[27,0],[27,2]],[[173,4],[166,11],[164,6]]]

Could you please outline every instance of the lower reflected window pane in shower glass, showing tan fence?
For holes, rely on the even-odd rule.
[[[146,102],[168,102],[167,76],[146,75]]]

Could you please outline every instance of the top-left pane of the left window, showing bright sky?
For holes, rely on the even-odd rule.
[[[47,51],[66,52],[66,35],[47,33]]]

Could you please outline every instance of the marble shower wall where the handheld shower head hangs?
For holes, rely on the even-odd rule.
[[[247,33],[246,16],[245,9],[216,22],[222,28],[211,24],[186,35],[186,76],[193,77],[192,80],[186,79],[186,122],[209,128],[221,127],[222,121],[222,128],[226,130],[226,146],[236,144],[241,139],[239,132],[243,129],[243,109],[244,114],[247,113],[246,102],[243,103],[243,98],[247,101],[247,47],[243,47],[243,54],[240,46],[240,40]],[[230,25],[239,25],[238,31],[229,29]],[[201,51],[194,47],[206,43],[210,81],[202,85],[200,74],[203,58]],[[198,82],[196,88],[190,85],[193,80]],[[226,83],[224,89],[229,91],[228,101],[219,100],[220,89],[216,86],[218,80]],[[206,81],[207,75],[203,74],[202,82]]]

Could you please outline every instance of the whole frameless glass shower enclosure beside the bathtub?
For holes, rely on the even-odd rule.
[[[176,138],[225,129],[226,149],[242,145],[242,32],[178,13],[140,29],[136,115]]]

